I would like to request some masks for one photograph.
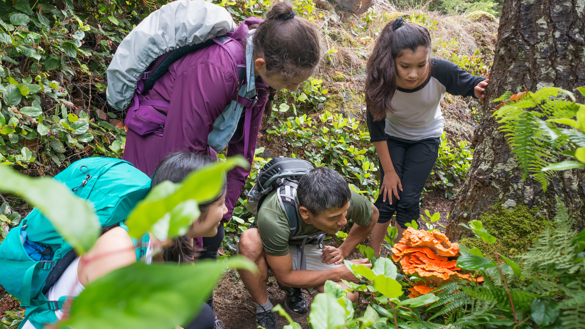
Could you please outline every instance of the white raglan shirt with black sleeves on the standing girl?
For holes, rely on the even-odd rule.
[[[440,104],[445,92],[477,98],[473,88],[484,78],[473,76],[448,60],[431,61],[429,76],[422,85],[396,90],[392,98],[394,111],[387,112],[386,120],[374,121],[367,111],[371,142],[387,140],[386,135],[407,140],[440,137],[445,122]]]

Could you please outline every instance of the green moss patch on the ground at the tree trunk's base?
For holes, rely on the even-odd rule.
[[[546,225],[545,220],[534,217],[523,206],[513,210],[497,210],[495,213],[482,215],[479,220],[487,232],[498,239],[491,248],[505,256],[511,249],[516,249],[518,253],[526,251]],[[495,256],[478,238],[463,238],[458,242],[468,248],[479,248],[484,256],[495,260]]]

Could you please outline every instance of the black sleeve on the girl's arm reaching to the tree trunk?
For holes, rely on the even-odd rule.
[[[432,76],[445,86],[447,92],[463,97],[475,97],[473,88],[481,81],[486,80],[462,70],[457,64],[448,60],[433,58]]]

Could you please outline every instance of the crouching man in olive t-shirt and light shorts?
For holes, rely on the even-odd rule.
[[[350,190],[343,177],[328,167],[315,168],[301,178],[297,188],[297,206],[301,225],[299,235],[309,235],[309,239],[319,233],[335,234],[348,220],[355,225],[339,248],[320,246],[313,239],[310,242],[307,240],[304,252],[301,252],[299,246],[303,240],[291,239],[290,223],[276,191],[266,197],[259,208],[254,228],[243,232],[238,245],[240,255],[258,266],[257,273],[245,270],[239,273],[256,304],[256,322],[266,329],[277,328],[278,324],[276,313],[270,312],[273,305],[266,294],[269,270],[280,285],[288,287],[285,289],[285,308],[304,313],[308,309],[307,303],[302,299],[300,289],[294,288],[304,288],[315,296],[323,292],[327,280],[342,287],[346,286],[341,279],[359,282],[343,265],[343,260],[370,234],[378,220],[377,208]],[[353,262],[362,264],[367,259]],[[348,293],[348,297],[356,302],[359,296]]]

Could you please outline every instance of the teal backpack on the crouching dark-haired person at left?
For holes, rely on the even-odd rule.
[[[54,179],[93,203],[102,234],[123,224],[150,190],[146,174],[129,162],[109,157],[79,160]],[[8,232],[0,244],[0,285],[20,300],[20,306],[26,307],[26,317],[19,328],[26,320],[37,329],[57,321],[54,310],[63,307],[67,296],[47,300],[45,294],[76,257],[71,246],[36,208]]]

